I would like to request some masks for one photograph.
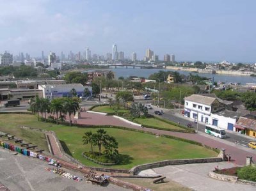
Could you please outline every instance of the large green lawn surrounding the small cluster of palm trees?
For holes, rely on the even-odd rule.
[[[9,121],[6,123],[6,121]],[[52,123],[38,122],[37,118],[26,114],[0,114],[0,131],[10,132],[17,135],[20,131],[18,126],[31,126],[56,132],[58,139],[66,148],[69,155],[76,158],[84,165],[97,166],[81,156],[83,151],[89,151],[90,146],[82,144],[84,132],[95,132],[97,128],[81,128],[76,126],[54,125]],[[109,135],[116,138],[118,142],[118,151],[123,157],[123,163],[113,166],[114,168],[131,169],[135,165],[156,162],[167,159],[178,158],[202,158],[216,157],[217,153],[211,149],[202,146],[189,144],[188,142],[177,141],[165,137],[156,137],[155,135],[132,132],[129,130],[120,130],[116,128],[106,128]],[[20,138],[29,137],[30,132],[20,133]],[[42,140],[33,140],[39,144]],[[95,150],[97,148],[95,147]]]

